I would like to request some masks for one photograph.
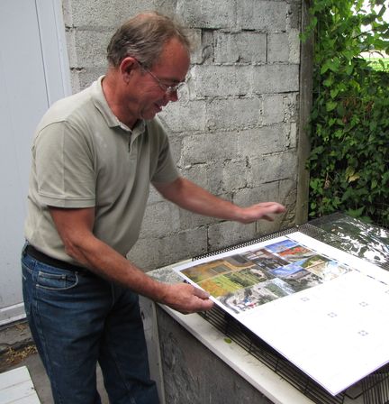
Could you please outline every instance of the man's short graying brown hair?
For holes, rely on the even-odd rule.
[[[107,47],[107,60],[117,68],[127,56],[140,61],[146,69],[158,61],[167,41],[176,38],[190,52],[191,44],[184,28],[157,12],[138,14],[123,23]]]

